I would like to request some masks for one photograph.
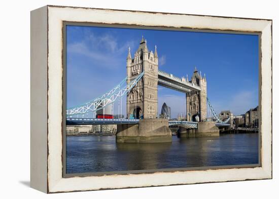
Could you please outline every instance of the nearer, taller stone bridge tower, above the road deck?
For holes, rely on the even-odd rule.
[[[140,46],[131,57],[130,48],[127,56],[127,84],[145,71],[143,78],[127,94],[128,118],[156,118],[158,106],[158,54],[150,52],[147,41],[142,37]]]

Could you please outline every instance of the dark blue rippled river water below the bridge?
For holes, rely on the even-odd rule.
[[[66,173],[258,164],[258,134],[178,138],[171,143],[115,142],[115,136],[67,136]]]

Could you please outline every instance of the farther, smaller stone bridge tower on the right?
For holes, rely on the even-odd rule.
[[[195,68],[190,83],[200,86],[201,91],[191,91],[186,94],[187,103],[187,121],[201,122],[205,121],[207,112],[207,91],[205,74],[202,77]]]

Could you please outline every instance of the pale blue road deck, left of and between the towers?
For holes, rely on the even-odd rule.
[[[103,119],[103,118],[74,118],[67,117],[66,125],[117,125],[117,124],[138,124],[138,119]],[[177,125],[187,129],[196,129],[197,122],[168,121],[169,126]]]

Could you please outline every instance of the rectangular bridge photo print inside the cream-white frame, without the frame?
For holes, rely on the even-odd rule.
[[[65,26],[65,174],[253,167],[259,35]]]

